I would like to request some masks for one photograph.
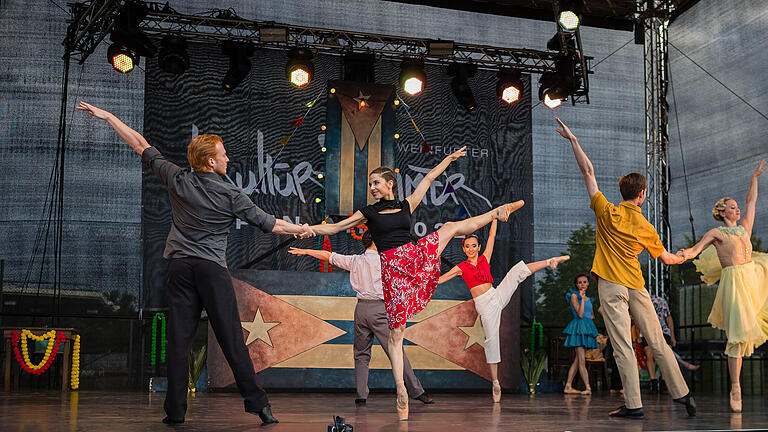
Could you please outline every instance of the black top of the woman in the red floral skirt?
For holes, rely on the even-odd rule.
[[[387,209],[400,209],[400,211],[379,213]],[[411,237],[411,206],[408,200],[380,200],[361,208],[360,213],[368,219],[366,225],[379,252],[414,241]]]

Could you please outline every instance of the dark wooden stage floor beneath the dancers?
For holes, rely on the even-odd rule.
[[[81,391],[70,394],[2,393],[0,430],[15,431],[244,431],[259,430],[257,416],[243,412],[233,393],[201,393],[190,398],[187,422],[169,429],[163,418],[164,393]],[[385,431],[599,431],[599,430],[765,430],[768,399],[745,397],[744,413],[731,414],[726,396],[699,395],[699,414],[685,415],[669,396],[644,395],[645,418],[612,419],[619,397],[505,394],[501,404],[490,394],[435,394],[434,405],[411,401],[408,422],[395,421],[394,394],[372,394],[362,407],[351,393],[272,393],[279,424],[272,432],[327,431],[333,414],[346,417],[355,432]]]

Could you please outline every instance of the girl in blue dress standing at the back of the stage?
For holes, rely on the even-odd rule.
[[[583,273],[579,274],[574,278],[573,284],[576,289],[571,288],[565,294],[565,300],[571,305],[573,320],[563,330],[566,335],[563,346],[576,349],[576,355],[571,368],[568,370],[568,381],[565,383],[564,392],[568,394],[592,394],[584,354],[586,350],[597,348],[599,345],[597,344],[597,327],[592,322],[595,318],[595,312],[592,310],[592,299],[587,297],[589,277]],[[587,387],[584,391],[578,391],[571,386],[577,369],[581,375],[581,380]]]

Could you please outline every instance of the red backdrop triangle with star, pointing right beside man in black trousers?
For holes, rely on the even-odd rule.
[[[268,337],[272,346],[261,338],[253,340],[246,346],[256,372],[346,333],[239,279],[232,278],[232,284],[235,287],[240,321],[250,323],[262,319],[265,323],[271,323],[265,327],[269,329],[264,336]],[[275,325],[275,323],[279,324]],[[243,340],[247,341],[249,336],[250,332],[243,329]],[[216,342],[210,326],[208,326],[207,366],[211,388],[224,388],[234,384],[232,370],[224,359],[224,353]]]

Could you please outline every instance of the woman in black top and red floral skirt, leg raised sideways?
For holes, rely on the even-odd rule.
[[[455,236],[470,234],[494,219],[506,221],[523,201],[508,203],[488,213],[463,221],[447,222],[437,231],[411,239],[411,213],[424,198],[429,185],[451,162],[465,156],[466,147],[443,159],[419,183],[413,194],[395,201],[395,173],[388,167],[373,170],[368,177],[371,196],[379,201],[363,207],[335,224],[314,225],[317,235],[331,235],[366,223],[381,257],[381,282],[387,311],[389,359],[397,386],[397,415],[408,420],[408,393],[403,383],[403,334],[405,322],[424,309],[440,277],[440,254]]]

